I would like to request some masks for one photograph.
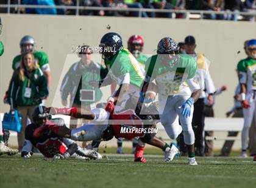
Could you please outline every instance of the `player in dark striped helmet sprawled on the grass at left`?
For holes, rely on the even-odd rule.
[[[84,150],[77,146],[77,144],[68,138],[63,138],[51,130],[44,130],[38,134],[38,129],[44,124],[54,125],[53,121],[58,120],[59,125],[65,127],[62,123],[63,119],[51,119],[51,115],[46,112],[46,107],[39,106],[33,113],[34,123],[29,124],[25,130],[25,143],[21,151],[21,156],[30,158],[32,155],[32,147],[36,147],[44,156],[54,159],[69,158],[71,156],[85,159],[101,158],[99,153],[93,150]],[[62,121],[62,122],[60,122]],[[41,129],[40,129],[41,130]]]

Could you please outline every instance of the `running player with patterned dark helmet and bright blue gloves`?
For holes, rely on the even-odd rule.
[[[159,115],[166,133],[171,139],[176,139],[183,130],[184,141],[188,147],[188,164],[197,165],[191,124],[193,104],[200,96],[199,82],[195,78],[196,61],[189,55],[179,54],[177,42],[166,37],[158,42],[157,55],[148,59],[145,71],[143,86],[154,80],[157,84]],[[143,97],[141,101],[144,101]],[[175,147],[172,150],[179,153]]]

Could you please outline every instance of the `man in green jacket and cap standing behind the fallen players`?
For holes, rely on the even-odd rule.
[[[70,106],[90,111],[96,107],[96,102],[101,100],[102,92],[99,87],[93,87],[89,83],[104,79],[108,70],[92,60],[93,55],[89,45],[83,45],[79,49],[81,49],[78,54],[80,61],[71,65],[64,76],[60,94],[63,106],[67,106],[67,98],[70,95]],[[82,124],[80,119],[72,118],[72,120],[71,129]],[[88,121],[83,123],[88,123]],[[85,146],[86,143],[84,142],[82,147]]]

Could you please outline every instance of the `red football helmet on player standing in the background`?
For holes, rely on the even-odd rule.
[[[128,50],[133,55],[139,54],[143,50],[144,40],[140,35],[132,35],[128,39]]]

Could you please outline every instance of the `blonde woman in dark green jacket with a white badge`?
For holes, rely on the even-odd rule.
[[[24,53],[20,67],[13,72],[10,81],[8,102],[11,110],[18,110],[21,115],[22,129],[18,133],[18,148],[24,144],[24,130],[27,117],[32,119],[35,107],[41,104],[41,99],[48,97],[48,84],[41,69],[35,65],[32,52]]]

